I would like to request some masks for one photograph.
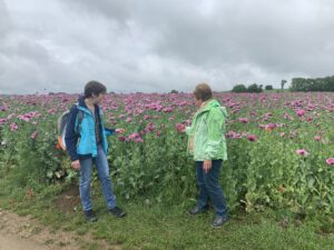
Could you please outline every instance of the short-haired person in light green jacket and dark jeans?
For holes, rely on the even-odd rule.
[[[199,187],[199,198],[189,214],[198,214],[208,210],[208,200],[215,209],[214,228],[222,227],[227,221],[227,208],[219,184],[219,172],[223,160],[227,160],[225,120],[227,111],[214,99],[210,87],[200,83],[194,91],[197,112],[191,126],[185,128],[188,134],[188,153],[196,162],[196,180]]]

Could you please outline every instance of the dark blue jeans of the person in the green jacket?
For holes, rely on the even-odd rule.
[[[206,173],[203,170],[203,161],[196,161],[196,180],[199,187],[197,207],[204,209],[208,200],[210,200],[216,216],[227,217],[226,201],[223,189],[219,186],[222,166],[222,160],[213,160],[212,169]]]

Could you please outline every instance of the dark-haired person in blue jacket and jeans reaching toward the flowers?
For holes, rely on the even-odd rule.
[[[80,198],[82,210],[89,222],[97,221],[92,211],[90,197],[90,182],[92,163],[96,164],[98,177],[107,208],[117,218],[126,213],[116,204],[112,192],[107,161],[107,136],[124,133],[124,129],[106,129],[104,127],[99,103],[107,92],[107,88],[98,81],[89,81],[85,86],[85,96],[80,97],[78,104],[70,110],[69,122],[66,130],[66,147],[71,158],[71,167],[80,171]],[[80,113],[80,116],[79,116]]]

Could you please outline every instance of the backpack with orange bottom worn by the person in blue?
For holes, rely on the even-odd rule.
[[[76,104],[78,106],[78,104]],[[57,130],[58,130],[58,134],[57,134],[57,148],[62,149],[63,151],[66,151],[66,142],[65,142],[65,134],[66,134],[66,128],[67,124],[69,122],[69,114],[70,114],[70,110],[65,111],[59,118],[58,118],[58,122],[57,122]],[[78,127],[76,129],[77,133],[79,133],[80,131],[80,124],[82,122],[84,119],[84,111],[82,110],[78,110]]]

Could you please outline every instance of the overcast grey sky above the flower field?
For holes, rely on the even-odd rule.
[[[0,0],[0,93],[332,76],[333,13],[332,0]]]

